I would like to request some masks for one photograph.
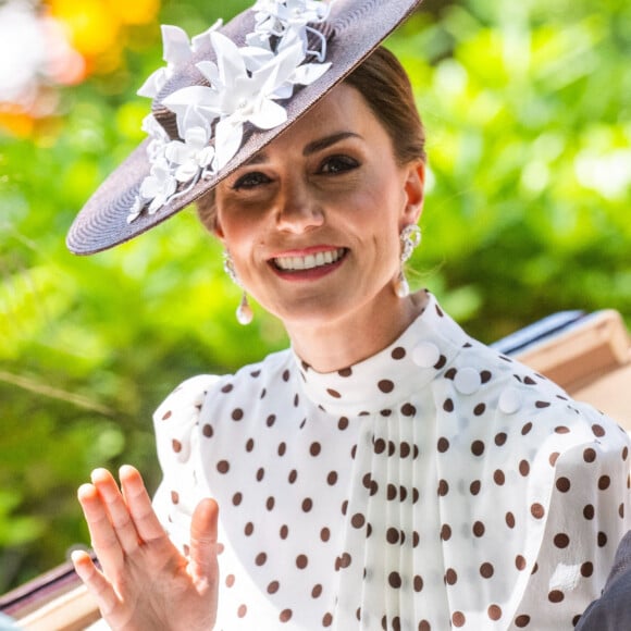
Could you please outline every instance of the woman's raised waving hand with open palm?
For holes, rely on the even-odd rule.
[[[121,490],[109,471],[92,472],[78,490],[99,570],[89,555],[72,555],[75,570],[114,631],[209,631],[216,614],[218,506],[203,499],[183,556],[158,521],[140,473],[122,467]]]

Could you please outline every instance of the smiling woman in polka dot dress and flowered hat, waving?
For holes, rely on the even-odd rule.
[[[160,406],[153,507],[129,467],[122,493],[104,470],[79,490],[102,573],[75,567],[114,629],[572,629],[605,583],[626,433],[407,288],[423,131],[379,41],[415,4],[258,3],[224,33],[273,57],[209,36],[208,81],[175,69],[149,150],[71,232],[103,249],[199,198],[226,270],[292,341]],[[296,42],[314,51],[299,72]]]

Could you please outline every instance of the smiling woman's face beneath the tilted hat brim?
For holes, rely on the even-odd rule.
[[[247,292],[289,329],[352,318],[400,300],[398,235],[419,219],[423,177],[342,84],[218,186],[215,232]]]

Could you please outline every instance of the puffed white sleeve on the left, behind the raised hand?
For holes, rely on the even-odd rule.
[[[171,540],[186,552],[190,519],[207,495],[198,474],[199,415],[216,375],[194,376],[177,386],[153,415],[162,482],[153,496],[153,509]],[[202,430],[201,430],[202,431]]]

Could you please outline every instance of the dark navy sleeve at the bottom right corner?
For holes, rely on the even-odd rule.
[[[603,595],[581,617],[577,631],[620,631],[631,629],[631,531],[616,553]]]

